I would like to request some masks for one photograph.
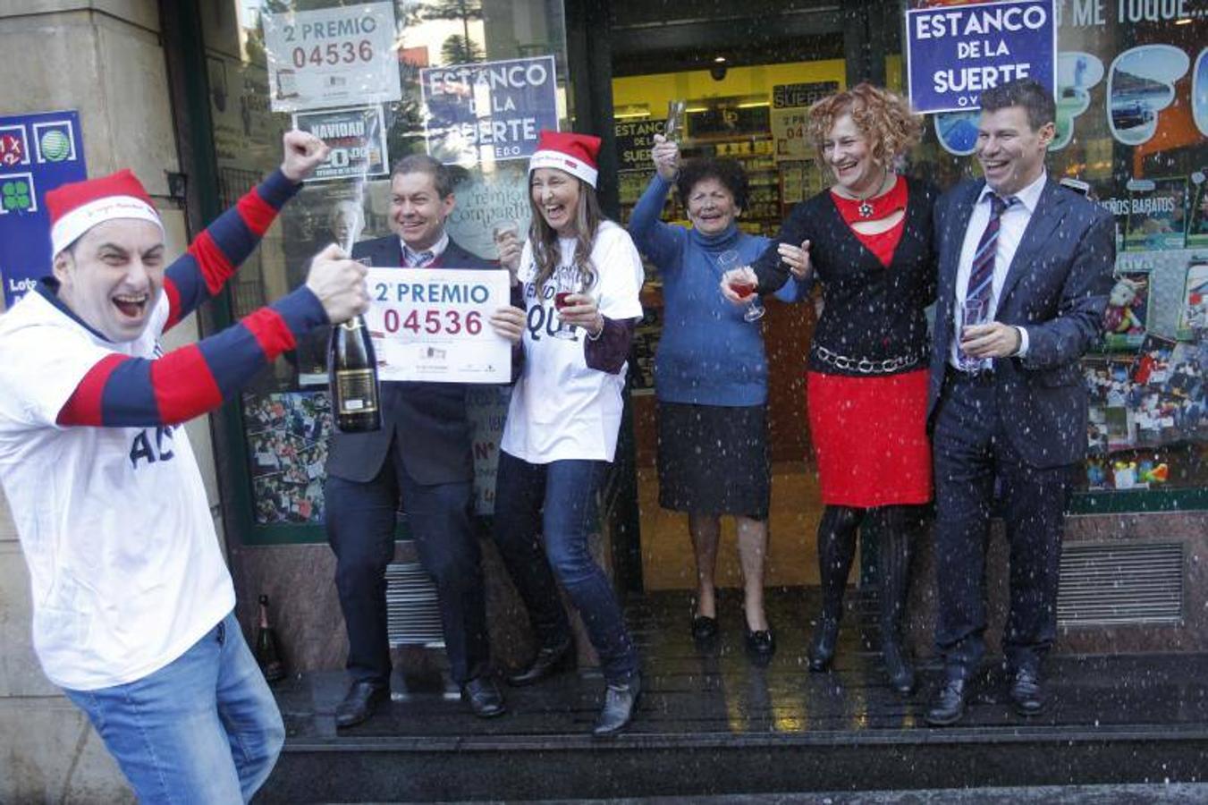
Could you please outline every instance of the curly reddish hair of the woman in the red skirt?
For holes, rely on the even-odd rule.
[[[825,164],[823,144],[835,121],[843,115],[852,115],[852,122],[869,140],[873,161],[887,168],[923,137],[923,120],[911,111],[908,100],[871,83],[858,83],[844,92],[826,95],[809,108],[806,127],[820,164]]]

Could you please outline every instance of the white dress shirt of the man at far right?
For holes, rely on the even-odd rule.
[[[1007,207],[999,219],[998,242],[994,244],[994,278],[991,280],[991,322],[994,320],[994,315],[998,313],[998,296],[1003,290],[1003,283],[1006,280],[1006,272],[1011,267],[1011,260],[1015,259],[1015,251],[1020,248],[1020,241],[1023,239],[1023,231],[1028,228],[1028,221],[1032,220],[1032,213],[1036,210],[1036,204],[1040,202],[1040,193],[1044,191],[1047,180],[1049,172],[1041,170],[1040,176],[1035,181],[1015,193],[1014,197],[1017,201]],[[993,192],[994,190],[987,184],[982,187],[977,201],[974,202],[974,212],[969,216],[969,226],[965,228],[965,242],[960,248],[960,262],[957,263],[957,297],[956,306],[953,307],[956,314],[952,317],[953,337],[952,348],[948,351],[948,363],[957,369],[960,369],[958,352],[960,348],[960,328],[964,324],[960,311],[964,308],[965,291],[969,289],[969,274],[972,271],[974,255],[977,253],[977,244],[981,242],[982,232],[986,231],[986,225],[989,224],[989,196]],[[1028,354],[1028,330],[1020,326],[1015,329],[1020,331],[1020,348],[1015,354],[1022,358]]]

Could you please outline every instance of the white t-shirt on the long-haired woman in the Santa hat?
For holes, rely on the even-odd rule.
[[[569,268],[575,241],[559,242],[561,268]],[[641,317],[641,257],[629,233],[611,221],[600,225],[591,254],[596,284],[588,293],[610,319]],[[563,459],[612,461],[621,428],[625,367],[616,375],[588,369],[583,355],[587,331],[556,338],[554,278],[538,289],[532,244],[521,255],[528,326],[524,329],[524,372],[512,392],[500,448],[530,464]],[[538,293],[540,290],[540,293]]]

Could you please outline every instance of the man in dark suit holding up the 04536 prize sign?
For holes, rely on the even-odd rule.
[[[395,234],[358,243],[353,257],[368,257],[373,266],[494,268],[445,232],[454,205],[448,168],[428,156],[405,157],[390,178]],[[515,239],[506,247],[501,256],[518,255]],[[490,323],[516,344],[524,313],[500,308]],[[365,720],[390,694],[385,568],[394,558],[400,504],[419,560],[436,583],[445,647],[461,699],[476,716],[504,713],[490,676],[481,555],[470,521],[474,459],[465,392],[459,383],[382,383],[382,429],[332,434],[326,527],[352,677],[336,711],[337,726]]]

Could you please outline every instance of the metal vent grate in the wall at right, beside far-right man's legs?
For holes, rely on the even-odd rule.
[[[1059,625],[1183,620],[1183,544],[1062,548]]]

